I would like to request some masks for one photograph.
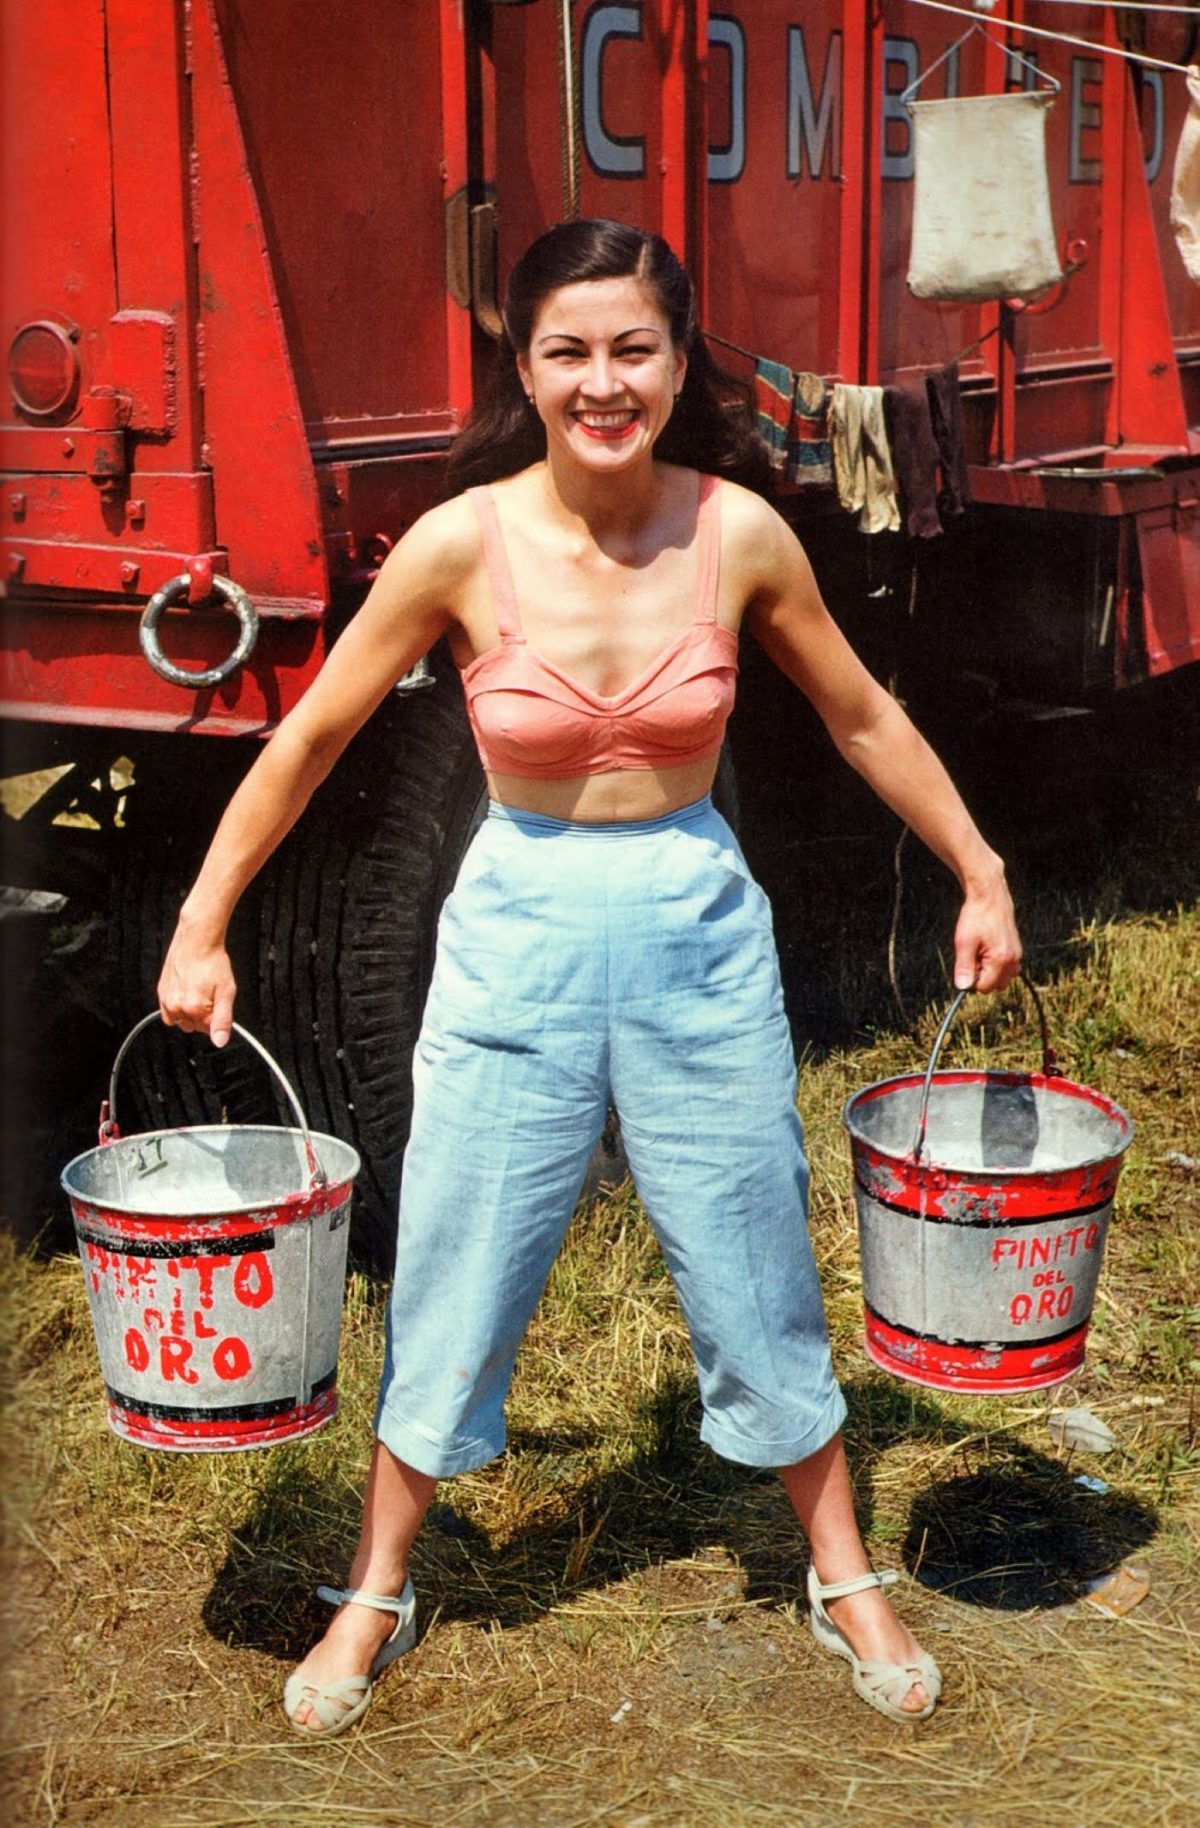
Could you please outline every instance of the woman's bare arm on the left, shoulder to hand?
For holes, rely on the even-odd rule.
[[[457,503],[424,515],[379,578],[304,698],[287,713],[230,799],[159,978],[163,1020],[230,1035],[236,983],[225,932],[236,901],[395,680],[446,632],[477,541]]]

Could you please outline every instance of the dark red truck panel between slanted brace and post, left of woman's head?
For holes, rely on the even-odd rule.
[[[216,0],[313,442],[452,430],[443,115],[457,0]],[[445,71],[443,71],[445,77]],[[443,168],[445,161],[445,168]]]

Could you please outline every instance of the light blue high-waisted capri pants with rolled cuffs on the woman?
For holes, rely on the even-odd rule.
[[[787,1466],[838,1431],[770,909],[712,801],[631,824],[494,804],[443,909],[413,1089],[375,1417],[401,1461],[441,1477],[503,1450],[609,1104],[701,1437]]]

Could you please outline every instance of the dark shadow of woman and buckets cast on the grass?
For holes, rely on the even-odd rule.
[[[874,1508],[873,1468],[889,1446],[904,1439],[935,1446],[938,1457],[962,1457],[962,1472],[918,1492],[904,1536],[904,1565],[937,1592],[1004,1612],[1059,1607],[1156,1532],[1147,1504],[1120,1490],[1098,1495],[1076,1484],[1070,1466],[1013,1435],[988,1437],[980,1455],[975,1426],[909,1386],[869,1380],[849,1384],[845,1393],[865,1534]],[[443,1486],[448,1497],[430,1510],[413,1552],[424,1618],[514,1627],[580,1592],[618,1585],[660,1561],[702,1557],[715,1546],[741,1565],[746,1600],[794,1601],[805,1550],[777,1481],[719,1461],[697,1440],[697,1426],[695,1387],[682,1378],[666,1384],[638,1415],[642,1450],[591,1481],[578,1466],[596,1451],[587,1431],[514,1431],[510,1477],[520,1481],[525,1466],[547,1488],[551,1455],[562,1486],[574,1488],[571,1503],[545,1525],[492,1543],[455,1508],[454,1488]],[[353,1493],[331,1512],[327,1493],[318,1493],[298,1466],[282,1479],[278,1490],[273,1483],[260,1492],[234,1526],[203,1618],[221,1642],[287,1660],[307,1649],[327,1618],[313,1598],[313,1579],[298,1568],[340,1581],[359,1512]],[[318,1512],[324,1525],[315,1537],[304,1519]]]

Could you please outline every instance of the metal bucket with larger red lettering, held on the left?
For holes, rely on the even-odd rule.
[[[267,1049],[296,1130],[198,1124],[121,1139],[117,1073],[101,1144],[62,1172],[108,1424],[176,1453],[311,1435],[337,1411],[349,1196],[359,1155],[313,1133]]]

